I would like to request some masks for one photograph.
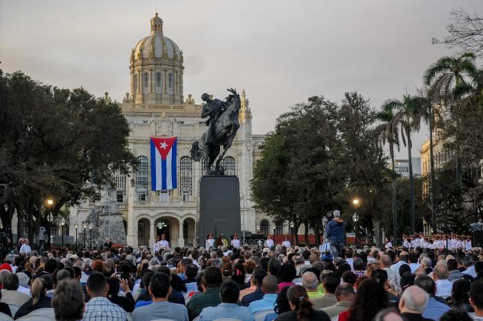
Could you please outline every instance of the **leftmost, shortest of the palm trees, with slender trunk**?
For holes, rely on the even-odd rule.
[[[384,108],[377,112],[376,117],[382,121],[380,125],[380,133],[382,142],[389,144],[389,155],[391,156],[391,165],[393,169],[393,233],[394,242],[397,242],[397,195],[396,195],[396,172],[394,166],[394,145],[397,146],[397,152],[399,149],[399,128],[395,126],[395,113],[390,108]]]

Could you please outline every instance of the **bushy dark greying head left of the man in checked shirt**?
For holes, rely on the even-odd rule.
[[[84,294],[79,282],[75,280],[61,281],[55,288],[52,307],[57,321],[82,320]]]

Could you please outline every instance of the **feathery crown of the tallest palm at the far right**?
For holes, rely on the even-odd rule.
[[[426,69],[423,81],[425,85],[431,85],[444,101],[450,101],[475,90],[478,74],[475,54],[466,52],[438,59]]]

